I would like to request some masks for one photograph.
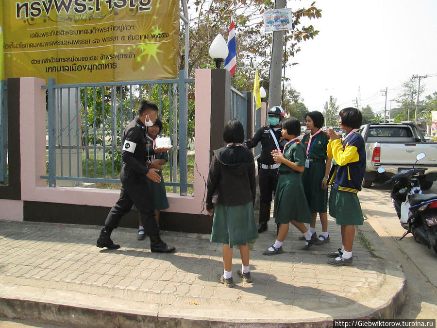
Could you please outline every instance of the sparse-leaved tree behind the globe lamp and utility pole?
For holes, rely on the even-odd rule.
[[[313,2],[308,8],[293,10],[293,33],[284,37],[286,49],[284,62],[301,50],[301,42],[312,39],[319,34],[312,25],[303,18],[319,18],[321,10]],[[188,1],[190,16],[189,42],[189,76],[193,76],[196,68],[212,68],[209,57],[209,46],[212,40],[221,33],[225,38],[229,31],[231,17],[234,17],[236,30],[237,69],[233,76],[233,85],[242,91],[252,90],[255,68],[260,80],[269,76],[272,34],[264,33],[264,10],[274,7],[271,0],[194,0]],[[184,69],[185,26],[180,28],[180,65]],[[293,64],[289,64],[293,65]],[[266,89],[268,90],[268,88]]]

